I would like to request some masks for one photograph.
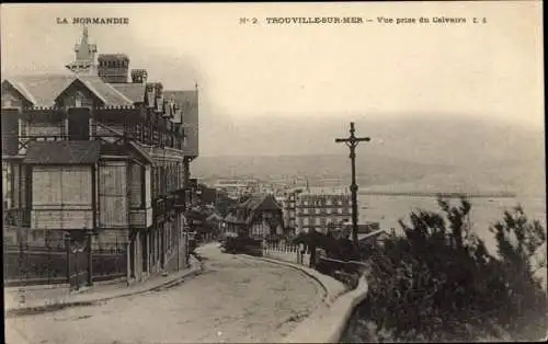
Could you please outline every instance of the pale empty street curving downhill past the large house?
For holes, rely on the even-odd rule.
[[[103,305],[7,319],[8,343],[13,331],[42,344],[272,343],[322,306],[321,286],[296,270],[220,253],[214,244],[197,252],[202,275]]]

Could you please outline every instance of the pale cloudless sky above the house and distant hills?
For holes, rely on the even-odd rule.
[[[1,71],[64,71],[81,26],[57,18],[122,16],[90,25],[99,53],[167,89],[199,88],[202,153],[235,128],[309,123],[470,117],[544,127],[541,3],[2,4]],[[269,25],[266,18],[359,16],[363,24]],[[385,18],[466,18],[467,24],[380,24]],[[258,24],[240,24],[256,18]],[[487,23],[473,24],[472,19]],[[300,124],[299,124],[300,125]],[[274,127],[274,125],[273,125]],[[342,131],[344,130],[344,131]],[[225,137],[216,144],[212,136]],[[232,136],[230,136],[232,135]],[[290,137],[279,153],[290,152]],[[299,141],[301,142],[301,141]],[[289,146],[289,147],[288,147]],[[246,148],[241,148],[241,150]]]

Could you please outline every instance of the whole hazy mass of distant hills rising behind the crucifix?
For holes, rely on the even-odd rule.
[[[349,149],[333,142],[341,124],[335,126],[335,119],[307,122],[307,131],[298,136],[299,121],[283,124],[272,119],[266,126],[256,125],[256,130],[247,123],[244,131],[243,127],[237,131],[244,133],[243,137],[227,134],[227,156],[197,158],[192,174],[270,181],[307,177],[311,185],[347,185]],[[356,150],[361,190],[545,194],[543,131],[473,118],[357,122],[356,126],[375,134],[372,142]],[[208,145],[215,142],[224,141],[213,139]],[[276,149],[289,150],[292,142],[299,156],[275,156]],[[232,154],[236,147],[247,156]]]

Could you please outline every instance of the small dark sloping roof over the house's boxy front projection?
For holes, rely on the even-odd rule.
[[[28,144],[24,163],[91,164],[99,161],[101,144],[89,141],[33,141]]]

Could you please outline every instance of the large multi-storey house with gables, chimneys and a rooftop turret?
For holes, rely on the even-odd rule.
[[[164,90],[84,28],[66,73],[2,80],[4,238],[67,236],[127,248],[128,278],[164,268],[182,246],[198,92]]]

